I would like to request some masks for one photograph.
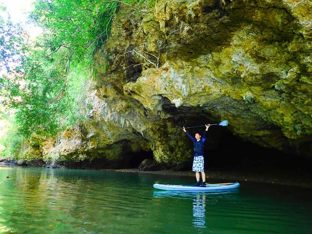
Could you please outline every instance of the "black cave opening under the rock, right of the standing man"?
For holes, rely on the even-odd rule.
[[[312,170],[311,159],[243,141],[226,128],[218,131],[218,142],[214,146],[209,144],[209,140],[213,140],[212,137],[215,136],[211,134],[207,137],[208,146],[205,152],[207,170],[292,175],[307,175]]]

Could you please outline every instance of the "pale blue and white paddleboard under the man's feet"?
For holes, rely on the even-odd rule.
[[[206,187],[198,187],[194,185],[177,185],[177,184],[154,184],[155,189],[169,191],[184,191],[184,192],[217,192],[228,191],[239,188],[238,182],[206,184]]]

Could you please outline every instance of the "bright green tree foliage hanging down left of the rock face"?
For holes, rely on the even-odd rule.
[[[77,90],[84,91],[82,76],[87,76],[94,53],[109,37],[120,4],[135,8],[143,2],[35,1],[30,20],[42,28],[42,36],[29,51],[23,49],[21,54],[27,56],[21,57],[14,78],[6,76],[0,81],[7,90],[7,103],[17,109],[21,135],[55,135],[63,130],[65,122],[77,120],[82,103],[77,104]]]

